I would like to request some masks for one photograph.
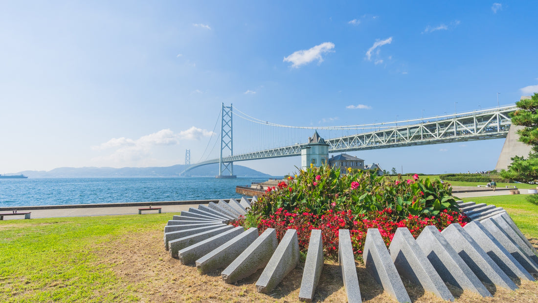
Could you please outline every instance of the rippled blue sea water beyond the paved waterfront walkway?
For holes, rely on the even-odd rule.
[[[36,178],[0,180],[0,207],[241,198],[237,185],[267,177]]]

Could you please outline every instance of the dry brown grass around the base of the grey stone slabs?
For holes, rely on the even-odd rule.
[[[182,265],[171,258],[164,249],[162,231],[131,233],[122,238],[104,242],[96,253],[100,264],[108,264],[110,270],[120,277],[140,298],[141,302],[297,302],[302,276],[302,265],[293,270],[270,294],[256,291],[256,281],[261,270],[236,284],[226,284],[220,271],[200,274],[195,266]],[[393,301],[380,285],[357,263],[360,290],[365,302]],[[443,302],[422,288],[404,281],[413,302]],[[457,302],[538,302],[538,283],[523,281],[516,291],[488,287],[493,298],[482,298],[452,287]],[[316,302],[345,302],[345,291],[338,264],[325,260]]]

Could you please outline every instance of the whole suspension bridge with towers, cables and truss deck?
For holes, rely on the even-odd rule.
[[[233,176],[233,163],[237,161],[300,156],[313,130],[323,131],[329,153],[506,138],[512,123],[509,113],[515,110],[515,105],[509,105],[404,121],[314,127],[262,121],[223,103],[213,130],[215,135],[220,121],[219,135],[211,136],[195,164],[190,164],[190,150],[186,151],[183,175],[193,168],[218,163],[217,177],[226,178]],[[264,140],[256,143],[254,137]],[[212,142],[213,148],[207,153]],[[220,149],[214,155],[217,143]]]

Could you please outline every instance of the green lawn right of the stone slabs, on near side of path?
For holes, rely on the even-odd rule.
[[[538,206],[528,202],[526,195],[485,196],[464,198],[464,202],[493,204],[502,207],[528,238],[538,239]]]

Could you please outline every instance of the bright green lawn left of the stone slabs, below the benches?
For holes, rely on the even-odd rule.
[[[0,302],[138,301],[96,251],[123,235],[162,229],[170,216],[0,221]]]

